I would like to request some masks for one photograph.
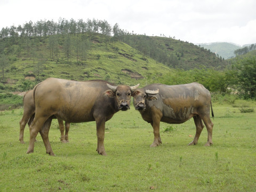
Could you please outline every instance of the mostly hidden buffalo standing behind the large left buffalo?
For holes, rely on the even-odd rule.
[[[24,137],[24,129],[26,124],[28,123],[28,126],[33,122],[34,116],[35,116],[35,102],[33,99],[33,90],[30,90],[26,92],[26,94],[23,97],[23,116],[20,120],[20,143],[25,143],[23,140]],[[64,135],[64,124],[63,121],[58,119],[59,127],[60,127],[60,141],[63,143],[69,142],[68,141],[68,131],[69,131],[69,123],[65,123],[65,135]]]

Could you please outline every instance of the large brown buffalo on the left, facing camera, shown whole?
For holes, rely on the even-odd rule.
[[[106,81],[76,82],[47,78],[34,88],[35,118],[29,127],[30,141],[27,153],[33,153],[35,138],[41,134],[46,153],[54,155],[49,142],[52,116],[68,123],[95,121],[97,151],[107,155],[104,148],[105,122],[119,110],[130,109],[131,93],[139,86],[112,86]]]

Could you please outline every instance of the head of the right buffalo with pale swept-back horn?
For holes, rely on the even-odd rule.
[[[151,90],[143,90],[143,89],[137,89],[132,92],[133,97],[133,104],[136,110],[145,110],[146,104],[145,100],[157,100],[157,97],[155,96],[158,94],[159,90],[151,91]]]

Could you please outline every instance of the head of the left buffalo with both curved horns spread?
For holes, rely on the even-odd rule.
[[[108,95],[108,97],[116,99],[119,110],[125,111],[127,109],[130,109],[132,91],[137,89],[139,85],[140,84],[135,86],[112,86],[107,84],[109,90],[105,91],[105,93]]]

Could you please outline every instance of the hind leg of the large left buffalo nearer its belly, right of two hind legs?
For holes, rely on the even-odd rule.
[[[41,137],[44,141],[44,146],[46,148],[46,154],[49,154],[51,156],[55,156],[53,151],[52,151],[52,147],[51,147],[51,144],[50,144],[50,141],[49,141],[49,130],[50,130],[50,126],[51,126],[51,122],[52,122],[52,117],[49,117],[42,129],[39,131],[39,133],[41,134]]]

